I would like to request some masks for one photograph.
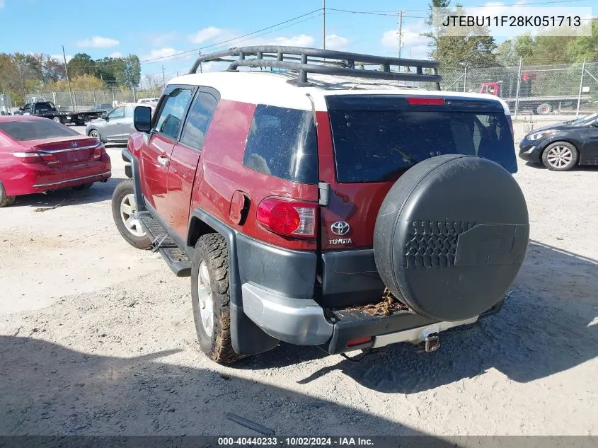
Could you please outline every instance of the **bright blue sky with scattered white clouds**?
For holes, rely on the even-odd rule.
[[[503,3],[558,6],[547,0]],[[594,0],[560,4],[587,7]],[[321,47],[321,8],[322,0],[0,0],[0,52],[42,52],[62,58],[64,45],[67,58],[77,52],[93,59],[137,54],[142,76],[164,74],[169,79],[188,71],[200,49],[205,53],[240,45]],[[429,47],[420,34],[426,30],[427,0],[327,0],[326,47],[397,55],[399,10],[404,11],[402,56],[426,58]],[[240,37],[257,30],[263,31]],[[177,55],[180,52],[188,53]]]

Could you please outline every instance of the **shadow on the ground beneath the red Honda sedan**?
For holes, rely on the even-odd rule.
[[[13,207],[34,207],[40,212],[45,209],[57,207],[67,207],[69,205],[91,204],[93,202],[103,202],[110,200],[116,185],[123,178],[109,178],[107,182],[96,182],[88,190],[74,190],[73,188],[64,188],[54,190],[49,193],[38,195],[17,196]]]

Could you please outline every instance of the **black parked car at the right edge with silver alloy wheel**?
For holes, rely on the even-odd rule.
[[[519,143],[519,157],[553,171],[598,165],[598,113],[530,132]]]

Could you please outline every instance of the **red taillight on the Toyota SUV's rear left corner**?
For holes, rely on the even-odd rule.
[[[258,222],[275,234],[315,238],[317,208],[313,202],[269,197],[258,206]]]

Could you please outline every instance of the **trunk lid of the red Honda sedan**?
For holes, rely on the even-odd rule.
[[[67,166],[93,160],[93,149],[100,142],[92,137],[54,137],[51,139],[28,140],[23,142],[36,152],[51,154],[58,163],[53,166]]]

